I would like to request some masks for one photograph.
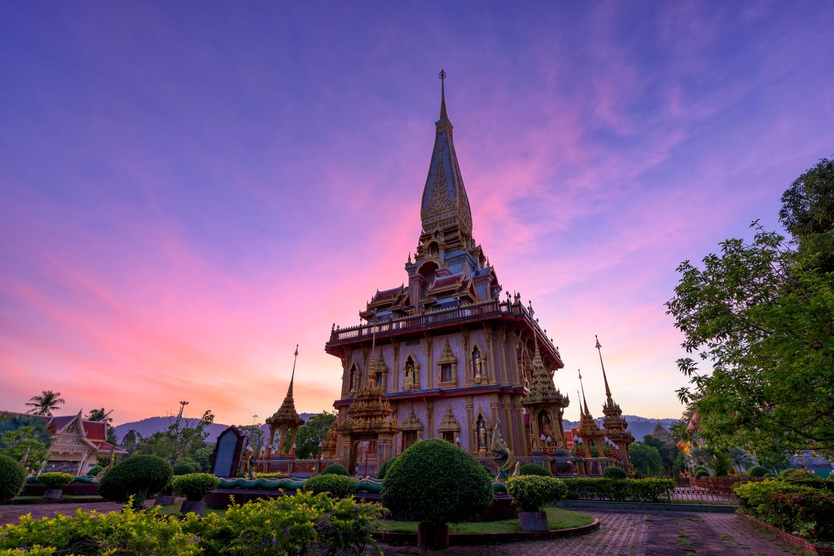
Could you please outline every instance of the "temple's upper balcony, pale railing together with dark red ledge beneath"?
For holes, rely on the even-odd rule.
[[[538,337],[540,349],[557,362],[558,368],[564,366],[559,350],[545,335],[539,323],[530,315],[530,311],[520,301],[483,301],[472,305],[463,305],[449,309],[439,309],[422,315],[407,316],[401,319],[380,320],[375,323],[335,328],[330,333],[330,340],[324,345],[329,354],[338,355],[340,348],[360,341],[367,341],[376,334],[377,340],[399,335],[418,335],[427,330],[445,327],[460,327],[468,323],[480,323],[485,320],[504,320],[525,326]]]

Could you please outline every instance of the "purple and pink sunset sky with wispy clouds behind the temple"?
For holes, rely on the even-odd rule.
[[[0,410],[332,409],[406,279],[440,82],[475,240],[604,400],[677,417],[676,266],[834,153],[834,5],[6,2]],[[358,7],[358,8],[357,8]]]

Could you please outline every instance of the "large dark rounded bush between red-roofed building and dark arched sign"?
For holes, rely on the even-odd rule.
[[[155,455],[133,455],[102,477],[98,494],[119,504],[133,496],[133,506],[141,508],[145,499],[158,494],[173,478],[173,469]]]

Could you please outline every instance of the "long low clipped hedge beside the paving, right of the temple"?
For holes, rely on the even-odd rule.
[[[600,499],[616,502],[660,502],[675,490],[674,479],[562,479],[568,499]]]

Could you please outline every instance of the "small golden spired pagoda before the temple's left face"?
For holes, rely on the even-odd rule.
[[[385,392],[376,379],[376,337],[371,343],[370,361],[367,380],[364,387],[357,391],[354,400],[347,410],[347,418],[338,419],[335,423],[336,432],[341,436],[342,463],[347,469],[355,469],[357,447],[363,442],[369,442],[376,448],[375,459],[377,469],[390,459],[393,453],[394,434],[402,428],[397,424],[394,410],[385,399]]]

